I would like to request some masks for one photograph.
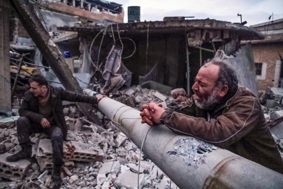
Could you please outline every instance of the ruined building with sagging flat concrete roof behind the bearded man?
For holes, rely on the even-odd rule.
[[[132,72],[132,85],[154,81],[172,88],[185,88],[190,94],[190,87],[203,61],[216,55],[228,57],[237,67],[240,84],[248,86],[257,94],[255,78],[251,77],[248,81],[245,77],[246,74],[254,75],[251,50],[249,46],[240,49],[240,41],[248,38],[263,39],[263,34],[241,24],[181,18],[112,24],[108,27],[58,29],[78,32],[80,40],[86,41],[88,47],[96,37],[93,46],[101,49],[101,52],[109,52],[109,44],[122,46],[122,62]],[[102,30],[105,30],[104,34],[97,37]],[[97,54],[98,50],[93,50],[91,58],[97,60]],[[100,56],[101,61],[106,57],[103,54]]]

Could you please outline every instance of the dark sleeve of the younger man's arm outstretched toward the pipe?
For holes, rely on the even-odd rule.
[[[60,93],[60,97],[62,100],[66,100],[69,102],[85,102],[90,104],[97,104],[97,98],[93,96],[87,96],[83,94],[79,94],[76,92],[71,92],[64,90],[63,88],[57,88]]]

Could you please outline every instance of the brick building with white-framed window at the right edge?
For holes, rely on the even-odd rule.
[[[250,44],[255,59],[256,80],[260,92],[267,87],[283,87],[283,19],[250,26],[264,34],[263,40],[242,41]]]

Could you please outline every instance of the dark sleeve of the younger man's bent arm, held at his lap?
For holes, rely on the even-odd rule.
[[[20,106],[20,109],[19,109],[19,115],[21,117],[26,117],[29,120],[32,120],[33,122],[40,124],[43,116],[39,113],[32,112],[29,109],[28,105],[29,105],[28,100],[24,99],[24,101],[21,103],[21,106]]]

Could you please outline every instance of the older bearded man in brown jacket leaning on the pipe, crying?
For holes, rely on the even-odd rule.
[[[143,105],[142,123],[165,124],[251,161],[283,173],[283,161],[264,118],[259,100],[238,86],[234,69],[212,59],[203,65],[192,86],[194,95],[179,106],[163,109]]]

